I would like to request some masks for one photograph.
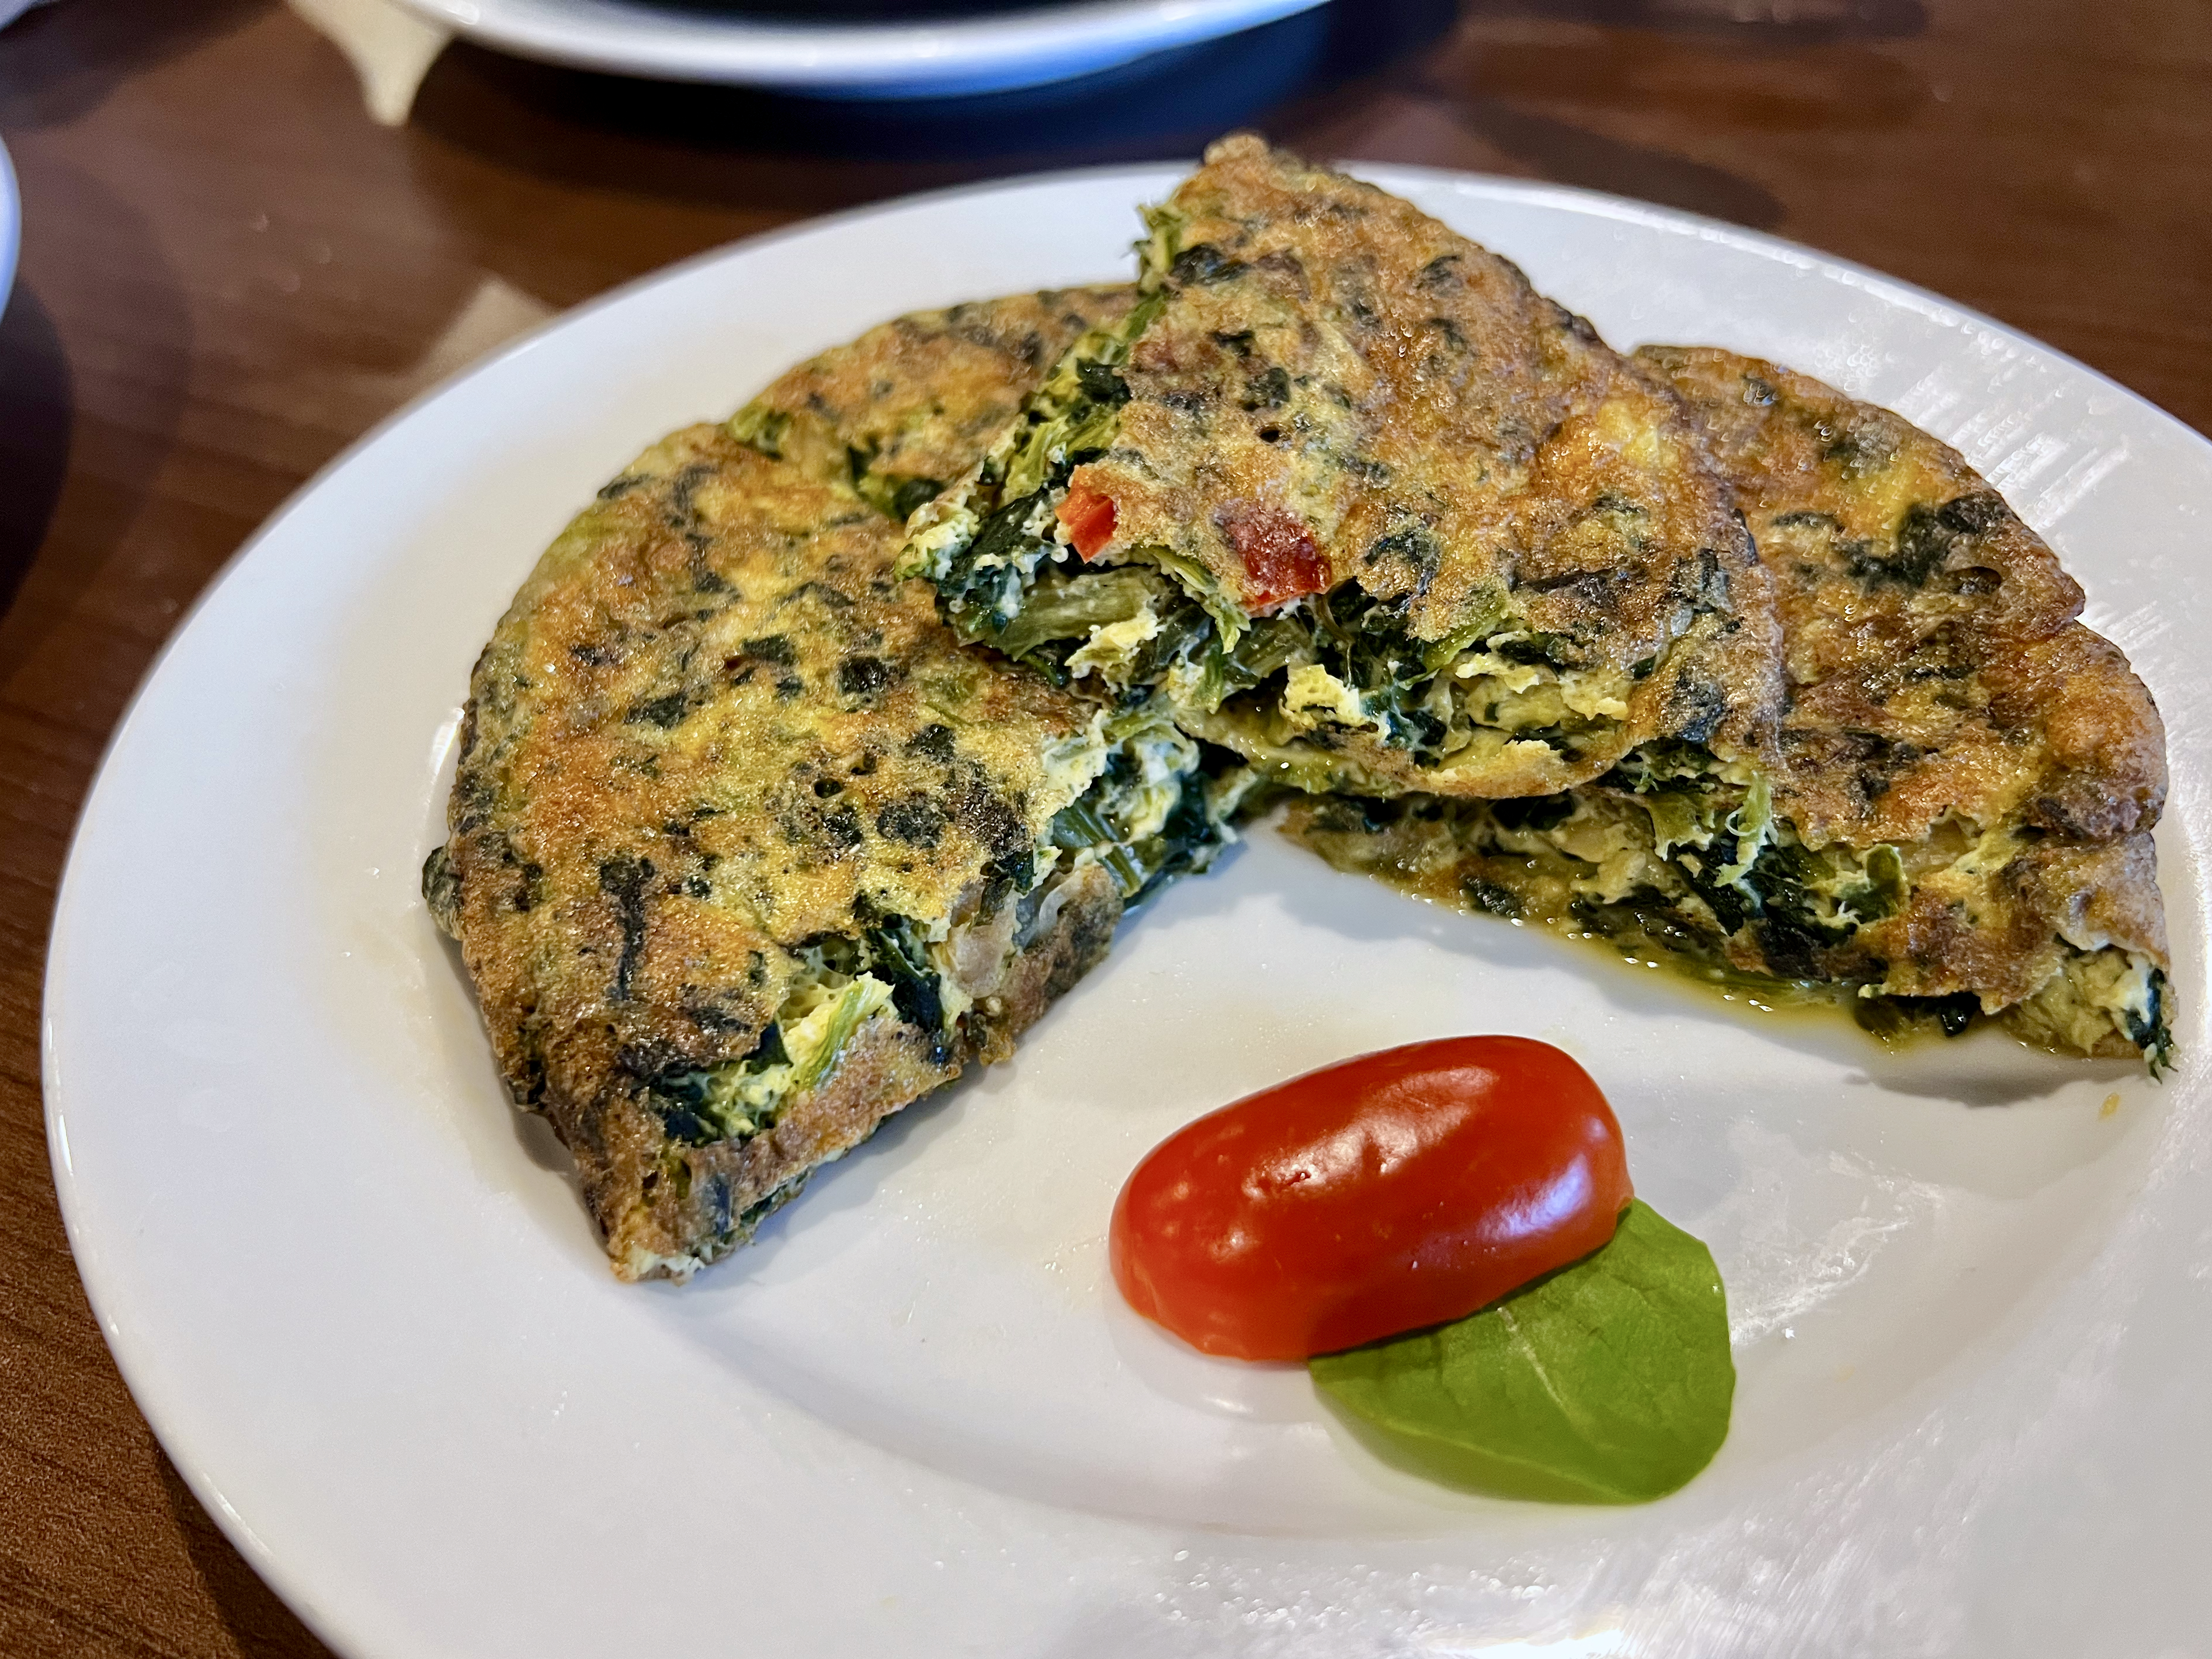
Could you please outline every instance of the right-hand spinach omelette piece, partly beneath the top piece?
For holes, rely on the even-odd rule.
[[[1303,803],[1292,834],[1429,898],[1847,998],[1878,1031],[1995,1015],[2161,1068],[2166,734],[2081,588],[1896,414],[1710,347],[1639,358],[1694,409],[1772,577],[1772,763],[1661,743],[1548,796]]]

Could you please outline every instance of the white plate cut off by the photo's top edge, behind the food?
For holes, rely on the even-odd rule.
[[[655,80],[938,97],[1088,75],[1321,0],[1075,0],[920,22],[783,22],[641,0],[405,0],[484,46]]]

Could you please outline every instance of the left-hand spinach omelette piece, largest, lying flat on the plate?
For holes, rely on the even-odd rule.
[[[1128,303],[909,316],[666,438],[484,648],[425,894],[624,1279],[690,1276],[1006,1055],[1223,843],[1232,757],[964,648],[891,575],[894,513]]]

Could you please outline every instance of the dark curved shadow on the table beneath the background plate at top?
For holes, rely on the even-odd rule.
[[[451,46],[414,126],[518,170],[604,190],[818,212],[1042,168],[1183,159],[1418,58],[1451,0],[1338,0],[1228,40],[1055,86],[843,102],[595,75]]]

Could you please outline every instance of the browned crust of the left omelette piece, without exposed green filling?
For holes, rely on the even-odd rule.
[[[814,436],[891,418],[911,453],[958,460],[1097,310],[907,319],[768,396],[827,387],[803,398]],[[1102,869],[1079,872],[956,1046],[885,1009],[752,1139],[688,1144],[655,1110],[655,1079],[759,1044],[807,940],[967,914],[1066,805],[1044,754],[1093,710],[960,648],[927,591],[891,580],[896,546],[852,487],[692,427],[599,491],[476,666],[451,920],[500,1071],[575,1155],[624,1276],[721,1254],[807,1168],[1004,1055],[1121,911]]]

